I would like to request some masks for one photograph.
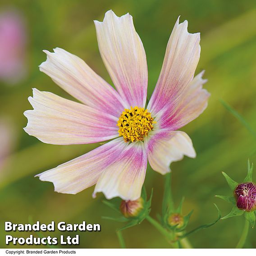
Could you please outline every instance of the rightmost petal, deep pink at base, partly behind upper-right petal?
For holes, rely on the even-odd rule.
[[[178,130],[203,113],[210,96],[210,93],[202,88],[207,82],[202,78],[203,74],[204,71],[189,82],[187,89],[178,97],[177,105],[167,106],[157,114],[155,120],[160,128]]]

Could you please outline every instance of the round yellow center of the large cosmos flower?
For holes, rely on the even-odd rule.
[[[144,137],[153,129],[154,118],[144,108],[131,107],[124,109],[117,122],[119,136],[125,142],[143,141]]]

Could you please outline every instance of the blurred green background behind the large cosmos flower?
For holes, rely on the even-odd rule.
[[[23,112],[31,109],[27,97],[32,95],[32,87],[70,98],[39,71],[38,65],[46,59],[42,50],[62,47],[84,59],[112,84],[99,54],[93,23],[95,19],[102,21],[109,9],[119,16],[127,12],[133,16],[147,55],[148,96],[155,87],[165,47],[178,15],[181,15],[181,21],[188,20],[189,32],[201,32],[201,59],[196,73],[206,69],[204,77],[209,82],[205,88],[211,97],[205,112],[183,128],[192,138],[197,158],[186,157],[172,164],[173,193],[177,204],[185,196],[185,214],[194,209],[187,230],[216,218],[214,202],[222,215],[229,212],[231,205],[214,197],[230,194],[221,171],[242,181],[247,171],[247,158],[256,163],[256,140],[219,99],[229,103],[256,130],[255,0],[1,0],[1,11],[9,7],[18,9],[26,21],[28,73],[13,86],[0,82],[0,117],[8,119],[13,129],[12,150],[0,169],[0,247],[7,247],[4,221],[28,223],[29,218],[41,223],[51,220],[100,223],[100,233],[79,233],[80,245],[77,247],[119,247],[115,229],[122,224],[101,219],[101,216],[115,215],[102,203],[102,194],[92,199],[93,187],[77,195],[59,194],[54,192],[52,183],[34,178],[35,174],[82,155],[99,143],[48,145],[23,131],[27,123]],[[161,212],[164,177],[148,168],[145,184],[148,192],[154,187],[151,216],[156,217]],[[243,218],[234,217],[201,230],[189,240],[193,247],[234,247],[242,228]],[[56,232],[55,236],[59,234]],[[255,234],[255,230],[250,229],[246,247],[256,247]],[[125,230],[123,237],[127,247],[169,247],[165,238],[146,220]]]

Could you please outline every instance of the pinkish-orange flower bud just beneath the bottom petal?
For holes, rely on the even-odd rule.
[[[122,201],[120,205],[120,210],[124,217],[136,217],[143,209],[143,199],[142,197],[134,201]]]

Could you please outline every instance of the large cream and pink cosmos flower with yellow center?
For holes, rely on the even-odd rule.
[[[113,11],[95,21],[98,45],[116,91],[82,59],[56,48],[44,52],[40,70],[81,103],[33,89],[34,110],[25,111],[25,131],[45,143],[68,145],[111,140],[37,176],[55,191],[76,194],[96,184],[93,196],[137,200],[147,160],[160,174],[184,155],[195,157],[192,141],[177,131],[207,106],[203,72],[194,77],[200,34],[187,32],[179,18],[171,33],[160,77],[146,106],[147,63],[142,41],[126,14]]]

